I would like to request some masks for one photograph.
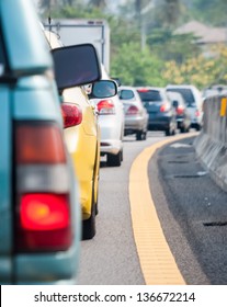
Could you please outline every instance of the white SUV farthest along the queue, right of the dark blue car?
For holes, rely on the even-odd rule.
[[[203,125],[203,99],[197,88],[191,84],[167,86],[167,91],[181,93],[191,115],[191,127],[200,130]]]

